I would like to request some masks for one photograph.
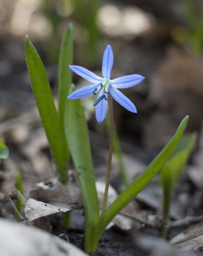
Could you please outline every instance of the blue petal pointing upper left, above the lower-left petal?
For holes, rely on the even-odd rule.
[[[99,77],[98,75],[95,75],[93,72],[89,71],[84,67],[69,65],[69,68],[76,74],[82,76],[83,78],[92,83],[99,83],[103,80],[103,78]]]

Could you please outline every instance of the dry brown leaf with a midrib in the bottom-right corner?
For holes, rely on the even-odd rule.
[[[177,249],[195,251],[203,245],[203,221],[190,226],[170,240]]]

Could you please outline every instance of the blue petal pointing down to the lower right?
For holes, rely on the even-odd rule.
[[[135,105],[132,103],[131,100],[129,100],[129,98],[127,98],[122,92],[120,92],[118,89],[116,89],[113,86],[109,87],[109,92],[112,95],[112,97],[120,104],[122,105],[124,108],[126,108],[127,110],[133,112],[133,113],[137,113],[137,109],[135,107]]]

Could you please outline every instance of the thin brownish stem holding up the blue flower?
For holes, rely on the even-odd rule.
[[[108,196],[109,183],[110,183],[110,173],[111,173],[111,159],[112,159],[112,152],[113,152],[113,134],[114,134],[113,97],[111,95],[109,96],[110,96],[109,158],[108,158],[108,167],[107,167],[107,176],[106,176],[106,186],[104,191],[104,198],[103,198],[103,204],[101,208],[100,219],[106,211],[106,203],[107,203],[107,196]]]

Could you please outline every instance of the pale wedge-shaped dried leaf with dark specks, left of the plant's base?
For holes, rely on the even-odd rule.
[[[33,221],[37,218],[47,216],[53,213],[68,212],[76,207],[59,207],[48,203],[44,203],[33,198],[28,198],[25,205],[25,214],[28,221]]]

